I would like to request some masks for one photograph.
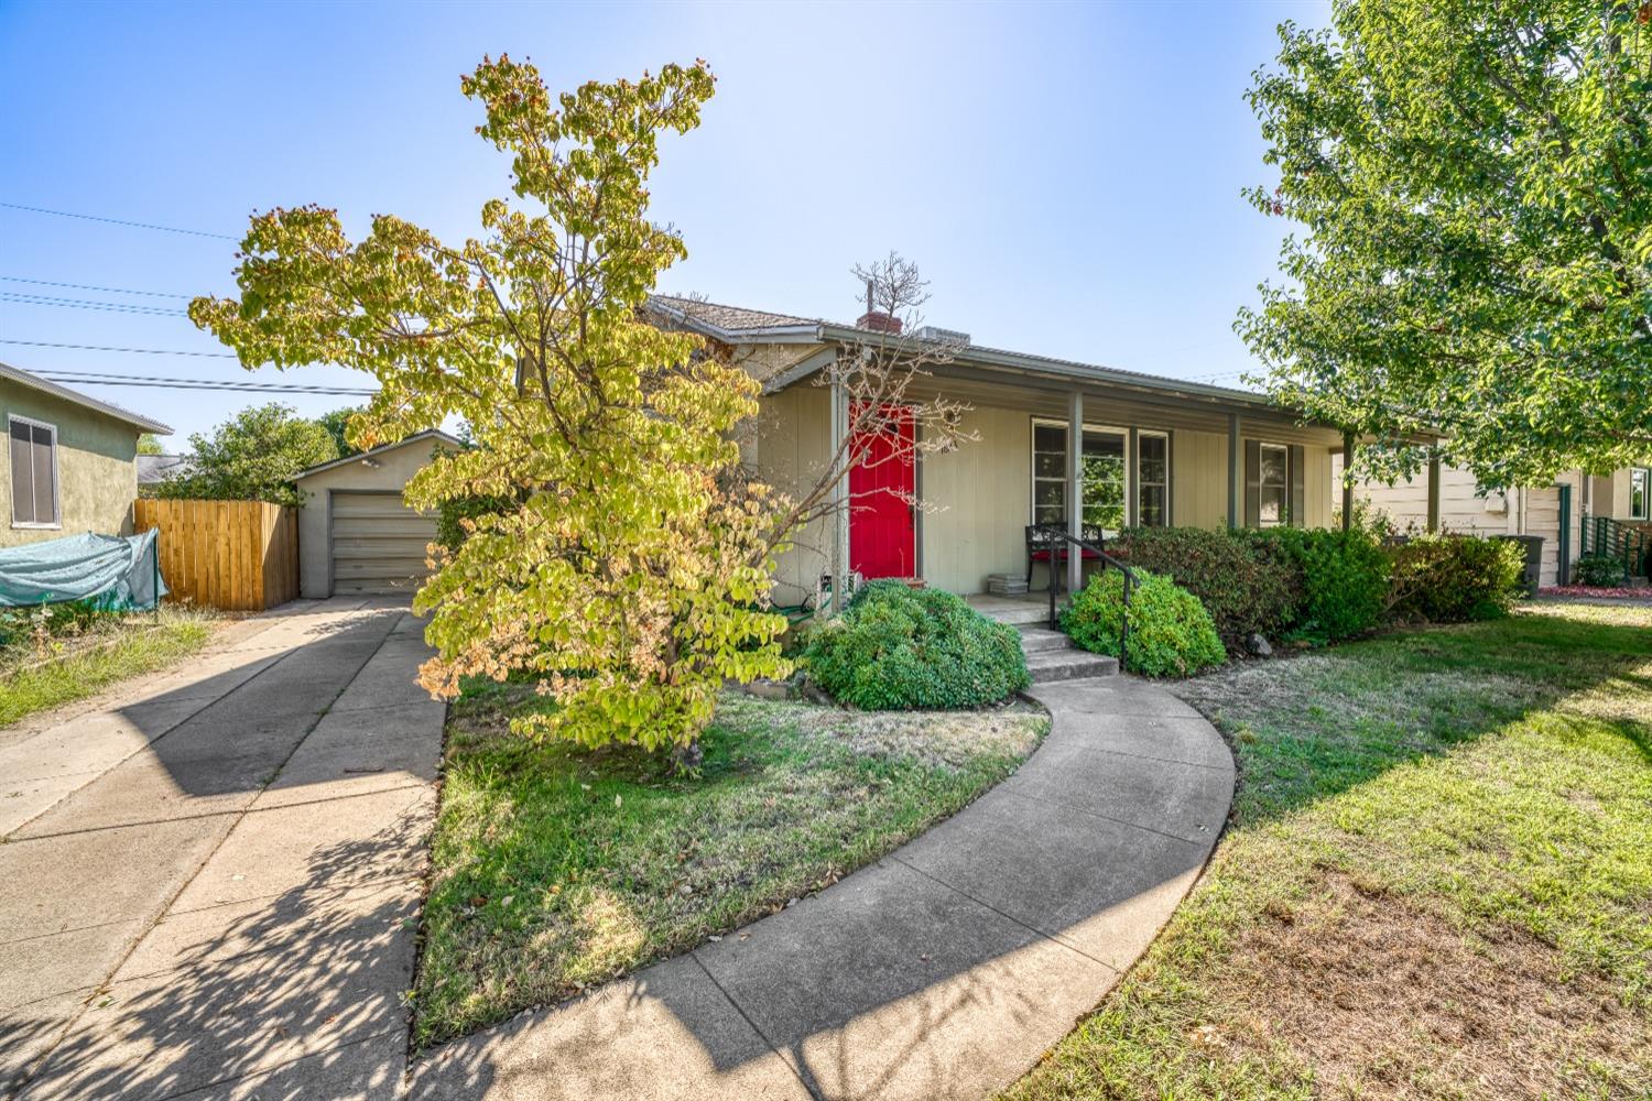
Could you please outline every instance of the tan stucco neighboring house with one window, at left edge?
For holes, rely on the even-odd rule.
[[[160,421],[0,363],[0,546],[81,532],[132,533],[137,437],[170,436]]]

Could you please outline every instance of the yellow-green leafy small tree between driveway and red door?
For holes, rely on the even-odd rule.
[[[737,429],[757,414],[757,381],[649,307],[686,248],[648,220],[648,177],[661,135],[699,124],[704,63],[552,97],[502,56],[461,86],[486,109],[477,134],[512,157],[517,203],[487,201],[481,238],[451,246],[378,215],[352,244],[332,210],[254,215],[240,300],[197,299],[190,317],[248,366],[375,375],[352,419],[363,447],[449,418],[471,428],[472,447],[406,487],[464,532],[434,548],[415,599],[438,649],[425,687],[451,697],[463,677],[527,675],[553,706],[514,716],[519,733],[669,746],[692,766],[722,685],[788,670],[775,556],[844,507],[834,489],[854,456],[839,451],[796,500],[748,477]],[[876,428],[862,423],[899,416],[910,370],[861,361],[843,368],[846,393],[867,396],[856,424]]]

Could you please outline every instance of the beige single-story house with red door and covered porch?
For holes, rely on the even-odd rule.
[[[727,348],[762,383],[762,426],[747,461],[793,494],[814,485],[849,423],[841,388],[818,385],[823,370],[869,328],[897,324],[867,314],[843,325],[666,295],[651,309],[662,324]],[[803,532],[781,560],[776,602],[803,602],[844,563],[862,578],[922,578],[981,593],[988,574],[1029,569],[1028,525],[1077,530],[1074,502],[1084,502],[1082,522],[1102,532],[1332,523],[1340,489],[1332,456],[1345,446],[1333,426],[1303,423],[1297,411],[1242,390],[942,333],[957,353],[909,393],[970,403],[965,428],[978,441],[879,475],[925,508],[909,508],[900,494],[851,489],[852,507]],[[1069,563],[1074,573],[1079,566]]]

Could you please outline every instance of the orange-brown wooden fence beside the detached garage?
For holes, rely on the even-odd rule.
[[[132,527],[160,528],[160,576],[173,601],[246,612],[299,594],[296,508],[261,500],[139,499]]]

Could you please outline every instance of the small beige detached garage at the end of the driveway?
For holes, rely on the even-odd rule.
[[[401,489],[434,447],[456,451],[463,444],[446,432],[420,432],[299,474],[299,589],[306,598],[411,593],[418,586],[436,518],[401,503]]]

